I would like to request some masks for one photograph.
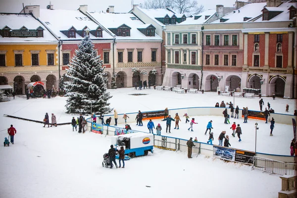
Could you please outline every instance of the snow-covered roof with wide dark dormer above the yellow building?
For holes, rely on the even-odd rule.
[[[0,30],[10,28],[11,30],[20,30],[26,28],[28,30],[43,29],[43,37],[2,37],[0,35],[0,43],[48,43],[57,42],[57,39],[47,30],[47,28],[31,14],[14,14],[0,13]]]

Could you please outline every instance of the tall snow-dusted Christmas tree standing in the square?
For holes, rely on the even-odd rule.
[[[86,36],[75,50],[65,76],[70,81],[64,82],[67,113],[104,114],[112,109],[108,99],[111,98],[107,90],[107,75],[104,72],[100,56],[96,56],[94,45],[89,36]]]

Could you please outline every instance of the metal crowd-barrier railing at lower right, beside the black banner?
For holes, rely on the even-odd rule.
[[[251,169],[269,172],[270,174],[295,175],[297,173],[295,168],[296,166],[296,163],[286,163],[283,161],[253,156],[253,164]]]

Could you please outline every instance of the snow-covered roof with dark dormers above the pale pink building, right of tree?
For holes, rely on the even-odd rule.
[[[144,29],[151,24],[144,24],[134,14],[130,13],[98,13],[89,12],[89,14],[96,19],[105,28],[118,28],[125,24],[130,27],[130,37],[116,36],[117,40],[162,40],[162,38],[155,33],[154,37],[148,37],[140,32],[138,29]]]

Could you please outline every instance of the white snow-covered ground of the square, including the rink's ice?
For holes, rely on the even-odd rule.
[[[221,97],[215,93],[176,94],[152,89],[138,91],[134,88],[109,91],[113,96],[110,100],[111,107],[116,108],[118,113],[160,110],[165,107],[174,109],[214,106],[222,100],[233,102],[232,97]],[[148,95],[129,95],[135,93]],[[286,113],[287,103],[290,105],[290,114],[296,109],[296,100],[263,99],[265,104],[269,101],[271,107],[279,113]],[[258,110],[258,100],[236,98],[235,105]],[[15,100],[0,103],[0,115],[9,114],[41,121],[45,112],[48,112],[55,113],[58,123],[70,122],[72,115],[64,113],[64,105],[65,98],[62,97],[29,100],[16,97]],[[220,116],[195,118],[199,124],[194,125],[194,133],[187,130],[188,124],[184,124],[182,118],[180,130],[172,129],[170,135],[184,139],[197,136],[198,141],[205,142],[207,137],[204,132],[210,119],[213,120],[215,137],[223,130]],[[237,138],[231,137],[232,147],[253,150],[254,121],[249,119],[247,124],[243,124],[242,119],[236,121],[245,126],[243,142],[239,143]],[[154,120],[155,124],[158,122],[160,121]],[[293,136],[290,128],[292,126],[276,124],[274,136],[270,137],[269,124],[258,120],[257,122],[260,127],[257,151],[271,153],[280,150],[279,154],[289,154],[287,147],[290,146]],[[2,116],[0,123],[2,140],[7,137],[10,124],[17,130],[15,144],[9,148],[0,147],[0,191],[5,198],[249,198],[252,193],[250,189],[257,192],[259,197],[277,198],[277,193],[281,190],[281,179],[277,175],[251,171],[250,166],[226,163],[203,155],[196,158],[196,154],[193,154],[194,158],[188,159],[185,152],[157,148],[153,154],[126,161],[125,169],[106,169],[101,166],[101,162],[103,153],[107,152],[110,145],[109,137],[89,132],[78,134],[72,132],[71,126],[67,125],[43,128],[42,124]],[[160,123],[164,128],[165,123]],[[132,129],[147,129],[145,126],[131,126]],[[230,125],[224,127],[230,135]],[[166,134],[163,129],[162,134],[164,133]],[[214,144],[217,144],[216,139]]]

